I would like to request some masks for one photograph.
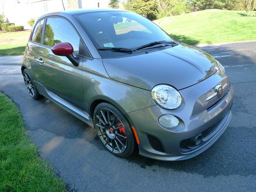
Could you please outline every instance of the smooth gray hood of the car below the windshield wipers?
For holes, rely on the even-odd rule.
[[[103,59],[103,65],[112,79],[146,90],[152,90],[156,84],[169,84],[181,90],[217,70],[213,57],[185,44],[147,54]]]

